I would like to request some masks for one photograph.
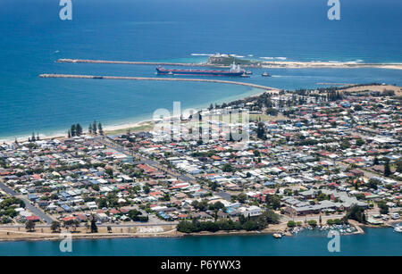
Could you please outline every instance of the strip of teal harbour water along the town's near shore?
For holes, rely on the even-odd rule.
[[[326,233],[305,230],[295,237],[281,239],[272,235],[242,235],[75,240],[71,253],[60,252],[59,241],[4,242],[0,243],[0,255],[402,255],[402,235],[392,228],[365,228],[364,232],[364,235],[340,236],[339,253],[328,251],[331,238]]]

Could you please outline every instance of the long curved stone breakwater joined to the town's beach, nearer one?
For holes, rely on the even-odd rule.
[[[263,90],[279,93],[281,89],[275,87],[266,87],[251,83],[228,81],[220,79],[190,79],[190,78],[164,78],[164,77],[133,77],[133,76],[99,76],[99,75],[76,75],[76,74],[40,74],[40,78],[70,78],[70,79],[117,79],[117,80],[139,80],[139,81],[183,81],[183,82],[206,82],[239,85],[253,87]]]

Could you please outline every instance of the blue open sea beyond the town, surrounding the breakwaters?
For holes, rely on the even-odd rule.
[[[258,92],[213,83],[40,79],[41,73],[152,77],[153,66],[56,63],[59,58],[202,62],[215,52],[288,61],[402,62],[402,2],[341,1],[329,21],[323,0],[72,0],[72,21],[55,0],[0,1],[0,139],[65,132],[71,123],[147,120],[158,108],[206,106]],[[252,55],[252,56],[248,56]],[[270,70],[256,84],[402,84],[402,71]]]

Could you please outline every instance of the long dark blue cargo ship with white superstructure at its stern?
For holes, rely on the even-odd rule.
[[[240,65],[233,63],[229,71],[212,71],[212,70],[176,70],[164,69],[163,67],[156,68],[156,74],[161,75],[197,75],[197,76],[242,76],[247,77],[246,71],[240,68]]]

